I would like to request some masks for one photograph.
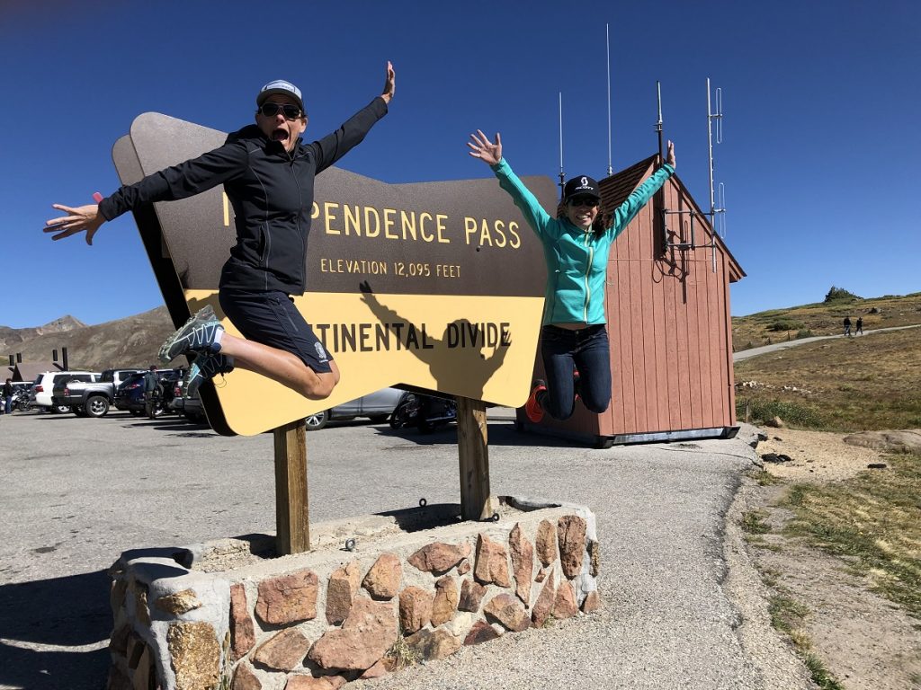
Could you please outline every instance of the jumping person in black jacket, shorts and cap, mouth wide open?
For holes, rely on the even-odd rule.
[[[194,357],[190,395],[236,364],[304,397],[329,397],[339,368],[294,305],[294,296],[306,287],[314,178],[364,140],[387,114],[393,93],[393,66],[387,63],[379,96],[335,132],[303,144],[307,111],[300,89],[281,79],[270,82],[256,94],[255,124],[229,134],[223,146],[126,185],[99,204],[53,204],[66,215],[49,220],[44,230],[56,233],[52,239],[86,231],[92,244],[99,225],[122,213],[223,185],[234,209],[237,244],[221,270],[218,300],[243,338],[227,333],[207,305],[163,344],[160,362]]]

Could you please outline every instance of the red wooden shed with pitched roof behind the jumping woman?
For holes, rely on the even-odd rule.
[[[653,155],[600,181],[606,209],[655,170]],[[709,215],[672,176],[614,242],[605,309],[612,400],[601,414],[580,403],[569,420],[545,415],[520,429],[607,447],[690,438],[731,438],[736,426],[729,283],[745,273]],[[542,377],[540,354],[534,370]]]

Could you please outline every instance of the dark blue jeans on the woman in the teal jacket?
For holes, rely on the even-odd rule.
[[[576,408],[576,394],[592,412],[606,410],[611,404],[611,349],[605,325],[578,330],[544,326],[541,339],[547,390],[538,402],[544,411],[554,420],[568,420]]]

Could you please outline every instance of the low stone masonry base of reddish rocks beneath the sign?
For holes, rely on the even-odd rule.
[[[313,550],[255,535],[127,551],[112,566],[110,690],[331,690],[598,608],[588,508],[494,499],[313,525]],[[351,550],[350,550],[351,549]]]

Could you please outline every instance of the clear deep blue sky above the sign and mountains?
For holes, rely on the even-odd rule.
[[[527,9],[523,9],[527,7]],[[723,90],[726,242],[748,277],[734,316],[921,290],[921,3],[686,2],[24,3],[0,0],[0,325],[88,324],[161,305],[130,215],[93,247],[41,232],[54,201],[118,186],[111,144],[138,114],[219,130],[251,121],[275,78],[304,92],[321,136],[379,93],[390,114],[340,163],[388,182],[487,177],[473,129],[502,132],[520,175],[608,163],[605,23],[611,26],[613,167],[657,150],[656,81],[678,174],[709,205],[706,90]]]

